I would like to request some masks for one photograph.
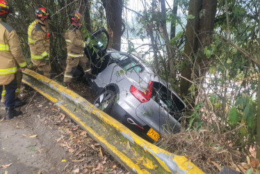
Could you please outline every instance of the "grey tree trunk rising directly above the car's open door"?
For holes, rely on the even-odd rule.
[[[108,47],[120,51],[122,35],[122,0],[101,0],[106,9],[108,34],[111,42]]]

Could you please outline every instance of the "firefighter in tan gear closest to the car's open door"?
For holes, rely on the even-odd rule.
[[[83,68],[85,74],[90,73],[90,68],[87,68],[88,58],[84,54],[84,47],[86,42],[83,40],[83,35],[80,31],[81,15],[79,13],[72,13],[70,16],[70,22],[72,26],[65,33],[65,40],[67,44],[67,67],[64,73],[64,83],[70,88],[72,79],[79,76],[79,70],[77,66],[80,65]]]

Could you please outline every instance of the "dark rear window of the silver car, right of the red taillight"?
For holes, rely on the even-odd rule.
[[[156,101],[172,116],[179,115],[180,111],[185,108],[184,103],[179,100],[179,97],[174,95],[174,93],[172,93],[168,88],[166,88],[159,82],[154,81],[152,97],[154,101]]]

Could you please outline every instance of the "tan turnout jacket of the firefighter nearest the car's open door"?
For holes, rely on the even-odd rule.
[[[84,56],[83,48],[86,46],[83,40],[83,35],[79,29],[70,26],[65,33],[67,44],[67,56],[71,58],[82,58]]]

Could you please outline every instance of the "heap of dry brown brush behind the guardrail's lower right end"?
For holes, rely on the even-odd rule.
[[[247,173],[260,173],[259,159],[250,159],[244,153],[227,145],[225,137],[202,130],[163,136],[158,145],[176,155],[187,157],[205,173],[219,173],[223,166]]]

